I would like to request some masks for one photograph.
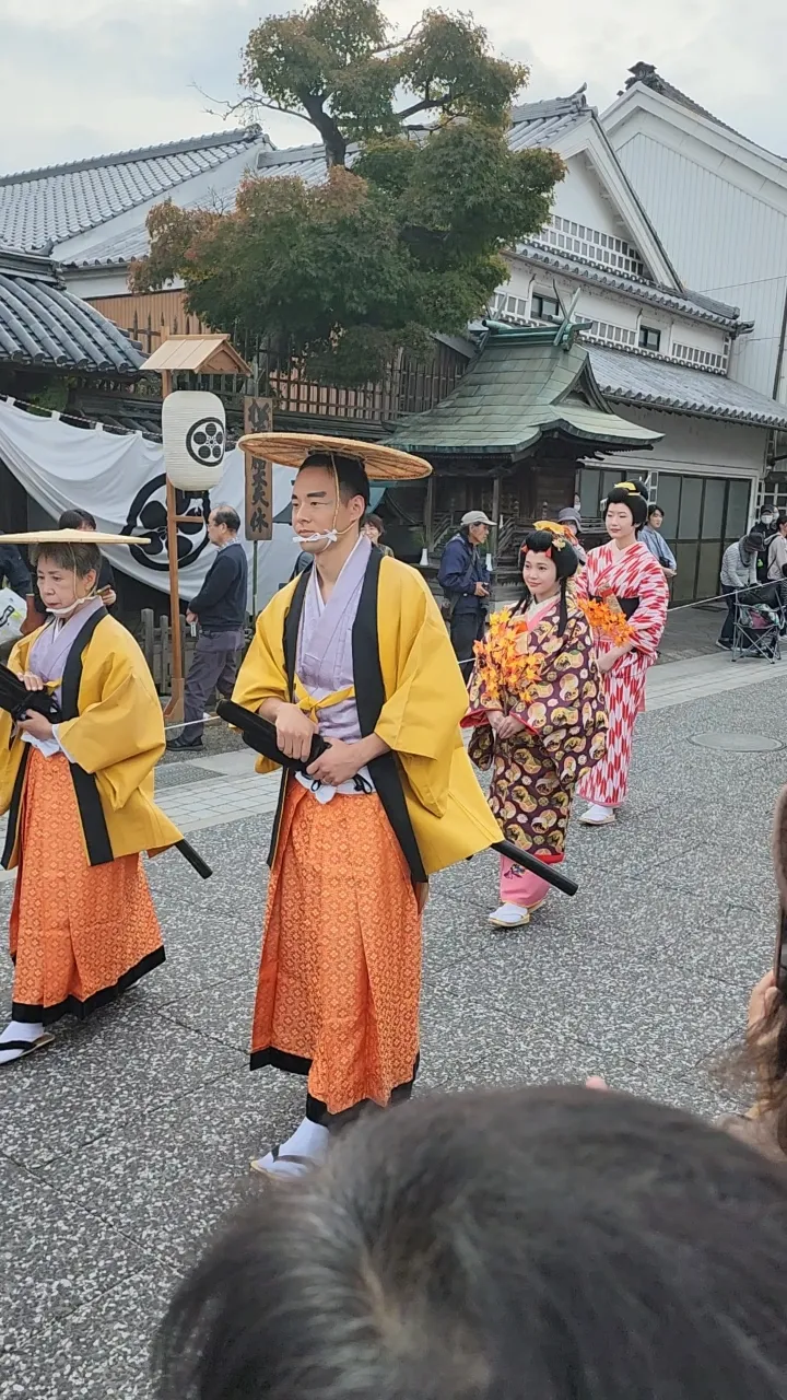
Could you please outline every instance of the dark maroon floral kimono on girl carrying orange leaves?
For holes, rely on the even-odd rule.
[[[559,612],[560,599],[550,598],[529,617],[518,608],[490,617],[464,721],[473,729],[471,759],[492,769],[489,805],[507,840],[546,864],[563,860],[574,790],[606,745],[591,629],[570,592],[563,634]],[[510,739],[497,738],[490,710],[515,715],[525,728]],[[532,909],[546,890],[545,881],[503,857],[504,903]]]

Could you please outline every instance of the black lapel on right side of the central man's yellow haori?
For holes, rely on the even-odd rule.
[[[358,610],[353,623],[353,676],[356,682],[356,704],[358,707],[358,721],[361,735],[368,738],[374,734],[379,711],[385,704],[385,686],[382,685],[382,666],[379,664],[379,633],[377,627],[377,605],[379,594],[379,566],[382,563],[379,549],[372,549],[367,564],[365,577],[361,587]],[[426,883],[426,871],[405,802],[399,764],[394,753],[384,753],[381,759],[370,763],[377,795],[382,802],[384,812],[391,822],[394,834],[402,847],[402,854],[410,867],[410,875],[416,885]]]

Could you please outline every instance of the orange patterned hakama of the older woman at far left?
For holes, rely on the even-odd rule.
[[[28,760],[11,910],[11,1015],[50,1025],[85,1016],[164,962],[140,857],[88,865],[70,764]]]

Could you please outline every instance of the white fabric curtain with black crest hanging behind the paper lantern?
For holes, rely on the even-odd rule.
[[[105,433],[63,423],[56,414],[36,417],[0,399],[0,459],[24,486],[28,496],[52,517],[83,507],[95,515],[99,529],[112,533],[147,533],[153,549],[106,547],[113,568],[132,574],[141,582],[169,592],[167,571],[165,482],[161,445],[148,442],[141,433]],[[273,514],[280,514],[290,500],[294,472],[273,468]],[[224,475],[211,493],[211,503],[234,505],[244,519],[244,454],[228,452]],[[202,497],[178,496],[178,512],[202,515]],[[0,512],[0,524],[1,512]],[[249,556],[249,608],[252,589],[252,550]],[[181,596],[193,598],[216,557],[204,525],[179,526]],[[258,610],[287,581],[298,554],[293,545],[291,525],[274,525],[273,539],[258,545]]]

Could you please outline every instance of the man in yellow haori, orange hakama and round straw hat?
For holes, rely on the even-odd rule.
[[[302,1123],[252,1163],[295,1175],[329,1128],[409,1098],[427,879],[500,829],[459,735],[468,696],[437,603],[361,531],[370,476],[429,463],[309,434],[242,445],[298,468],[293,525],[314,564],[260,613],[234,700],[276,725],[287,757],[305,760],[318,731],[330,745],[283,776],[252,1032],[252,1070],[308,1077]]]

